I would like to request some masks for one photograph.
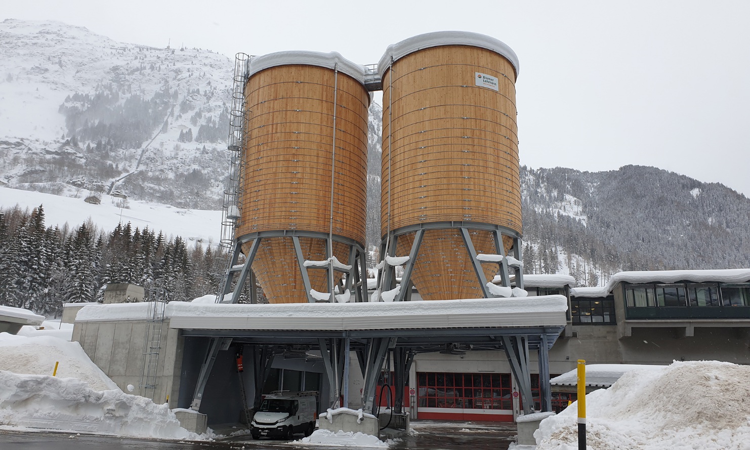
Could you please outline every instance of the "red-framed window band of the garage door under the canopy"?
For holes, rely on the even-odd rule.
[[[511,410],[510,374],[419,372],[419,407]]]

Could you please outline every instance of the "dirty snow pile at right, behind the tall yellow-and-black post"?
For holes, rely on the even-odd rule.
[[[591,449],[750,449],[750,367],[674,362],[586,395]],[[577,403],[541,422],[537,450],[577,448]]]

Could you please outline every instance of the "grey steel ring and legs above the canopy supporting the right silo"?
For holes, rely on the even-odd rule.
[[[466,251],[469,253],[469,257],[472,261],[477,282],[481,285],[481,292],[485,298],[490,298],[490,293],[487,288],[487,280],[484,277],[484,271],[481,270],[481,264],[477,260],[477,254],[474,249],[469,230],[477,229],[481,231],[489,231],[493,233],[495,248],[499,255],[502,255],[502,260],[499,262],[500,266],[500,278],[501,283],[505,287],[511,287],[510,276],[508,274],[508,263],[505,259],[505,248],[502,244],[502,236],[510,236],[513,239],[513,256],[521,261],[521,245],[523,244],[520,233],[505,226],[493,225],[490,223],[478,223],[460,220],[448,220],[443,222],[432,222],[432,223],[419,223],[416,225],[402,226],[399,229],[395,229],[390,232],[389,236],[384,236],[380,245],[380,254],[383,255],[383,267],[378,271],[378,284],[380,292],[386,292],[396,287],[396,275],[395,268],[386,263],[386,257],[396,257],[396,248],[398,245],[398,239],[401,236],[415,233],[414,242],[409,254],[409,261],[404,266],[404,275],[401,276],[401,292],[396,301],[403,302],[410,297],[407,291],[411,290],[413,285],[411,281],[411,275],[413,267],[416,264],[416,258],[419,255],[419,248],[422,246],[422,239],[424,239],[425,231],[430,229],[458,229],[464,244],[466,245]],[[388,248],[386,248],[386,246]],[[515,284],[517,287],[523,289],[523,268],[516,267],[514,269]],[[410,294],[410,292],[409,292]]]

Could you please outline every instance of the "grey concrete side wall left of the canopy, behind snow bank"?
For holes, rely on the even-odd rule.
[[[152,398],[157,404],[165,403],[169,396],[169,407],[177,407],[183,338],[179,336],[179,330],[169,329],[169,320],[164,321],[156,389],[143,389],[140,384],[147,324],[145,320],[77,322],[72,340],[79,342],[92,362],[124,392]],[[135,389],[129,392],[127,385],[133,385]]]

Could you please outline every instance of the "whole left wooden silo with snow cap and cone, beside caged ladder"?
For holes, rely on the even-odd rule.
[[[258,241],[252,271],[269,302],[308,302],[305,277],[321,293],[328,277],[302,261],[326,260],[329,236],[344,264],[364,247],[364,68],[338,53],[279,52],[252,58],[248,76],[235,237],[245,254]]]

